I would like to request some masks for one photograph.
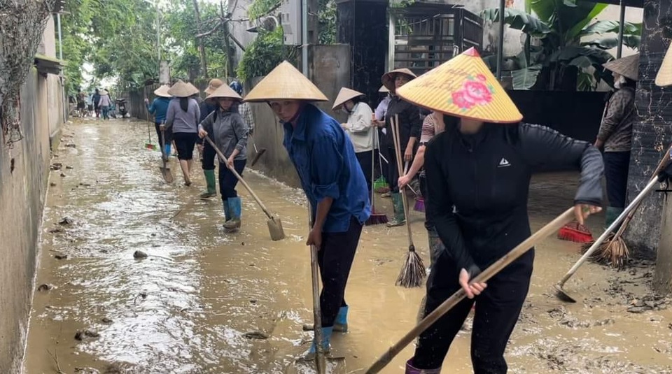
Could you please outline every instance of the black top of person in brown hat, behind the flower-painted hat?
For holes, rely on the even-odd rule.
[[[381,139],[384,148],[394,148],[392,125],[390,122],[390,119],[394,118],[394,115],[399,115],[399,132],[401,133],[399,142],[401,143],[401,153],[403,154],[410,137],[417,138],[416,145],[420,141],[420,130],[422,128],[420,109],[412,103],[400,99],[399,96],[392,96],[385,113],[386,136]]]

